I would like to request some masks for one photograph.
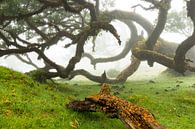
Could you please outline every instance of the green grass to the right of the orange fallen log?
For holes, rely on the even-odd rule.
[[[162,125],[170,129],[194,129],[193,85],[193,77],[161,78],[156,79],[155,83],[134,81],[126,84],[128,88],[121,92],[121,96],[148,108]],[[127,95],[128,92],[131,94]]]

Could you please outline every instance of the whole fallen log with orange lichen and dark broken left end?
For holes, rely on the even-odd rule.
[[[97,95],[89,96],[83,101],[70,102],[67,107],[78,111],[105,112],[119,118],[126,129],[167,129],[147,109],[111,95],[108,84],[103,84]]]

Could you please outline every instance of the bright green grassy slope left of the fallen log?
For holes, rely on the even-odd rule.
[[[85,85],[86,89],[77,87],[77,84],[68,83],[39,84],[24,74],[0,67],[0,128],[124,128],[119,120],[110,120],[101,113],[90,115],[66,109],[65,104],[76,96],[84,98],[99,88],[97,85],[96,90],[91,89],[91,85]]]

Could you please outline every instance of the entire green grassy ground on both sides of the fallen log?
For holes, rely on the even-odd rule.
[[[26,75],[0,67],[1,129],[124,129],[103,113],[75,112],[65,105],[95,94],[100,86],[89,81],[39,84]],[[112,91],[149,109],[170,129],[195,128],[194,77],[129,81]]]

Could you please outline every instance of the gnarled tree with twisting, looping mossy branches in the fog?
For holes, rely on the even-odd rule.
[[[189,42],[193,41],[194,35],[188,38],[187,41],[184,41],[185,43],[182,43],[178,49],[176,44],[159,38],[166,24],[171,1],[145,1],[150,3],[151,6],[149,8],[144,7],[144,9],[159,10],[158,22],[155,27],[135,12],[119,10],[101,12],[99,1],[95,3],[85,0],[1,1],[0,55],[17,54],[17,58],[21,61],[33,65],[40,71],[38,72],[39,74],[35,72],[35,75],[38,76],[35,78],[43,78],[43,80],[41,79],[42,81],[53,77],[72,79],[76,75],[83,75],[90,80],[100,83],[124,83],[137,70],[140,60],[147,60],[150,66],[153,65],[153,62],[158,62],[180,73],[186,70],[193,71],[193,68],[186,62],[185,55],[193,46]],[[34,8],[35,6],[36,8]],[[193,20],[193,14],[190,13],[193,10],[191,6],[192,3],[188,4],[188,16]],[[13,12],[13,9],[17,10],[17,13]],[[124,22],[131,30],[131,38],[121,53],[109,58],[94,58],[92,55],[85,53],[83,48],[85,42],[90,37],[96,37],[100,30],[110,31],[116,37],[119,44],[121,43],[116,30],[109,24],[114,19]],[[146,30],[148,34],[147,39],[143,40],[143,37],[140,38],[138,36],[135,23]],[[69,39],[71,43],[63,44],[65,48],[68,49],[68,47],[74,45],[76,46],[76,52],[70,61],[68,61],[68,65],[64,67],[47,57],[45,51],[53,45],[58,44],[60,40],[66,39]],[[139,45],[140,42],[144,45]],[[109,79],[106,74],[94,76],[84,69],[75,70],[75,65],[82,57],[88,57],[91,60],[91,64],[95,66],[97,63],[122,59],[131,49],[133,49],[131,64],[116,79]],[[31,52],[36,53],[39,60],[43,60],[45,64],[44,68],[39,68],[26,54]],[[26,58],[24,59],[19,54],[25,54]],[[55,69],[56,72],[50,72],[51,69]],[[29,74],[33,75],[33,73],[30,72]]]

